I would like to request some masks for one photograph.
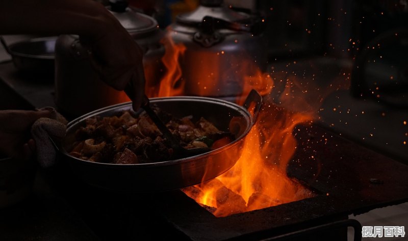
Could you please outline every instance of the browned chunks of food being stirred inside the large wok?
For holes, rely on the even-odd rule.
[[[175,118],[153,106],[181,146],[217,148],[232,142],[230,132],[220,131],[213,123],[193,116]],[[162,133],[143,112],[134,116],[122,111],[114,116],[93,116],[75,131],[75,143],[69,154],[90,162],[110,164],[141,164],[174,159],[173,149]]]

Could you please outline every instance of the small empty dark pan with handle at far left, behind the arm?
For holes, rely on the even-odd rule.
[[[57,37],[43,37],[24,40],[7,45],[0,41],[13,58],[15,67],[23,73],[54,75],[54,50]]]

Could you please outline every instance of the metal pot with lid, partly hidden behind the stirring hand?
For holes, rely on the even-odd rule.
[[[107,8],[143,49],[146,88],[156,85],[160,80],[161,57],[164,55],[164,47],[159,42],[163,32],[157,21],[127,7],[126,2],[116,1]],[[104,106],[129,101],[125,93],[100,80],[79,36],[60,36],[55,55],[55,101],[59,111],[65,115],[80,116]]]

